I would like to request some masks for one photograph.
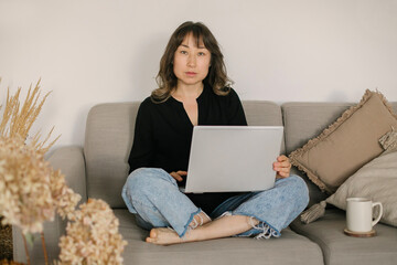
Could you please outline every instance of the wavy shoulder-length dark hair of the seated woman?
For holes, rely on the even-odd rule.
[[[175,51],[190,33],[193,34],[197,46],[203,41],[204,46],[211,52],[211,66],[204,82],[213,88],[216,95],[225,96],[229,93],[228,86],[232,81],[227,77],[223,54],[215,36],[203,23],[186,21],[172,33],[161,57],[159,74],[155,77],[159,88],[151,94],[153,102],[165,102],[171,96],[172,89],[176,87],[178,78],[173,72],[173,59]]]

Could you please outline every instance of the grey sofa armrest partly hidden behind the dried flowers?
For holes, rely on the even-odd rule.
[[[66,183],[74,192],[82,195],[81,203],[87,201],[85,159],[82,147],[68,146],[56,149],[47,159],[51,166],[61,169],[65,174]],[[66,220],[62,220],[57,214],[53,222],[44,223],[44,237],[49,262],[52,264],[60,254],[58,241],[65,234]],[[25,250],[23,246],[22,232],[17,226],[12,226],[13,259],[25,263]],[[34,244],[29,247],[31,264],[44,264],[44,255],[40,234],[34,235]]]

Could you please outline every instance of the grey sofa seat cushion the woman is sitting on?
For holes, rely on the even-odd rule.
[[[128,242],[122,253],[125,264],[323,264],[321,248],[289,229],[271,240],[228,237],[159,246],[144,242],[149,232],[137,226],[131,213],[121,209],[114,212]]]

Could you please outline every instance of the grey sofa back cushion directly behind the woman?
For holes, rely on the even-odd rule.
[[[94,106],[87,117],[84,155],[87,195],[103,199],[111,208],[125,208],[121,189],[127,179],[140,103]],[[282,125],[281,108],[272,102],[243,102],[248,125]],[[275,158],[276,159],[276,158]]]

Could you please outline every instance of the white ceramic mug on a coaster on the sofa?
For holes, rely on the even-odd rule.
[[[357,233],[371,232],[373,226],[379,222],[383,214],[380,202],[372,202],[366,198],[347,198],[346,219],[347,230]],[[373,221],[373,208],[379,206],[379,214]]]

